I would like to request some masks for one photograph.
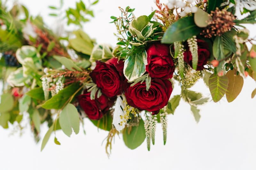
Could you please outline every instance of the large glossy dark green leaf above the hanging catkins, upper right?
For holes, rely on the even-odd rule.
[[[196,26],[193,17],[184,17],[174,22],[164,33],[162,43],[172,44],[176,41],[185,41],[201,33],[202,28]]]

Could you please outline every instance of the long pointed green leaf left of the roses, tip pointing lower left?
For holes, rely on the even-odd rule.
[[[64,104],[68,102],[70,97],[81,87],[80,83],[74,83],[63,90],[58,94],[54,95],[51,99],[47,100],[41,107],[45,109],[61,109],[64,107]]]

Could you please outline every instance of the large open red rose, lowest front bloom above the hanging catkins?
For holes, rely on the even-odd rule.
[[[132,87],[127,83],[125,86],[127,88],[124,90],[124,94],[128,105],[153,112],[153,115],[167,105],[172,93],[172,83],[159,78],[152,78],[148,91],[145,82],[137,83]]]

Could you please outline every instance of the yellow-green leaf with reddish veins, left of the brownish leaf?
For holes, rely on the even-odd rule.
[[[212,100],[218,102],[228,89],[228,77],[219,77],[217,74],[212,74],[209,78],[209,89],[212,94]]]

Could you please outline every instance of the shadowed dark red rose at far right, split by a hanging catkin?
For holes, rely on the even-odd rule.
[[[210,51],[207,42],[204,40],[197,39],[198,45],[198,63],[196,70],[203,70],[204,65],[210,58]],[[192,67],[192,54],[189,50],[188,44],[185,45],[186,51],[184,52],[184,61]]]

